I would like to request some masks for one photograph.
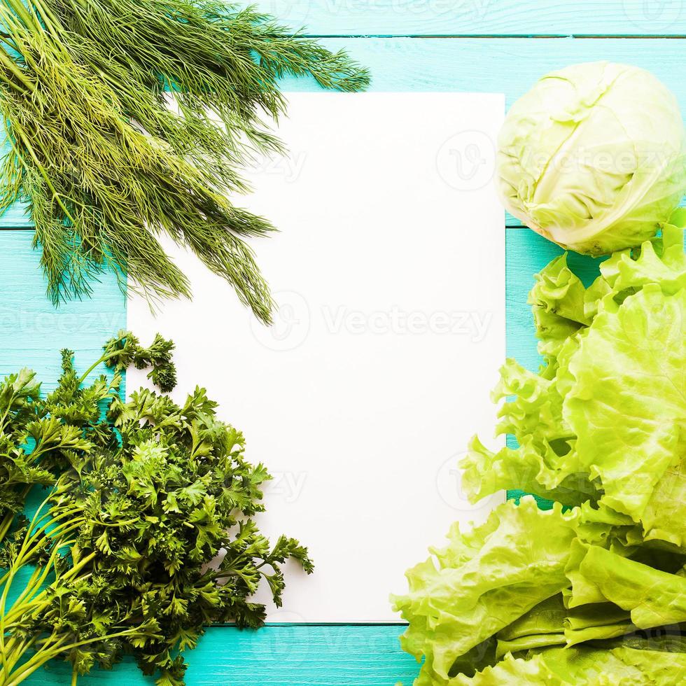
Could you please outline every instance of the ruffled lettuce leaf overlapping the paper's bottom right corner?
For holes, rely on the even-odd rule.
[[[407,572],[409,593],[392,602],[426,683],[448,680],[458,657],[568,586],[575,521],[560,505],[540,512],[533,498],[503,503],[472,531],[454,526],[447,547]]]

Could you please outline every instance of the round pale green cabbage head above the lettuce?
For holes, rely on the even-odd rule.
[[[676,99],[652,73],[575,64],[510,109],[498,191],[511,214],[564,248],[611,253],[652,237],[678,207],[685,146]]]

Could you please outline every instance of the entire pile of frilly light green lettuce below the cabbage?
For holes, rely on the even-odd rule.
[[[670,686],[686,677],[686,211],[615,253],[585,288],[566,256],[531,291],[539,372],[507,360],[498,433],[477,438],[463,486],[533,498],[454,526],[409,570],[416,685]]]

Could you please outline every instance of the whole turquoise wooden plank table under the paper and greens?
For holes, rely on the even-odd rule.
[[[542,73],[573,62],[609,59],[650,69],[686,113],[686,2],[681,0],[262,0],[290,25],[307,25],[328,48],[345,47],[373,75],[377,91],[505,92],[511,104]],[[286,90],[316,90],[288,81]],[[646,104],[649,106],[650,104]],[[57,350],[84,365],[125,325],[125,301],[113,279],[92,300],[58,311],[45,299],[31,227],[21,208],[0,220],[0,374],[33,367],[45,387],[59,373]],[[538,364],[526,307],[532,274],[559,250],[507,219],[507,351]],[[578,258],[575,258],[578,260]],[[590,275],[591,260],[577,262]],[[438,497],[438,494],[437,494]],[[446,529],[449,522],[446,522]],[[436,541],[427,541],[427,545]],[[391,589],[389,589],[390,591]],[[395,589],[401,590],[401,589]],[[402,626],[272,624],[260,631],[216,626],[187,654],[189,686],[388,686],[411,684],[414,659],[400,651]],[[27,684],[68,684],[70,670],[50,666]],[[151,683],[125,662],[79,680]]]

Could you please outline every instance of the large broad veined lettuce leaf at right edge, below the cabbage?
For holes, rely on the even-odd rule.
[[[655,283],[598,314],[569,361],[563,416],[577,454],[601,501],[635,521],[686,454],[685,363],[686,290],[664,295]]]

